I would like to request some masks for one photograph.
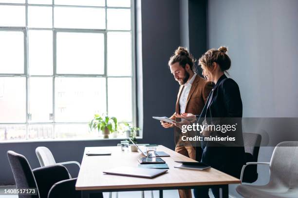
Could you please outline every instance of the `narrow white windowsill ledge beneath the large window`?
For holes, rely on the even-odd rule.
[[[143,139],[143,137],[138,136],[135,137],[136,139]],[[6,143],[30,143],[30,142],[74,142],[74,141],[101,141],[101,140],[124,140],[128,139],[125,137],[112,137],[112,138],[92,138],[92,139],[75,139],[75,138],[56,138],[56,139],[31,139],[31,140],[5,140],[0,141],[0,144],[6,144]]]

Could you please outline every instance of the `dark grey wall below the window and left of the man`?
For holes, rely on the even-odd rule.
[[[140,143],[162,144],[174,148],[173,130],[164,130],[152,115],[171,115],[174,112],[178,84],[168,69],[168,58],[180,45],[179,0],[142,0],[143,54],[143,140]],[[170,87],[170,88],[167,88]],[[13,184],[6,151],[11,149],[25,155],[32,168],[38,167],[35,148],[52,150],[57,162],[81,162],[85,147],[114,146],[119,141],[65,141],[0,144],[0,185]],[[70,168],[73,173],[76,167]]]

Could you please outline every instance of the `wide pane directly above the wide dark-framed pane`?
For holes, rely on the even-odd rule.
[[[105,29],[105,9],[55,7],[56,28]]]

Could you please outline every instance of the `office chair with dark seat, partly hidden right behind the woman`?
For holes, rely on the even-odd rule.
[[[243,132],[246,163],[258,162],[261,139],[262,138],[260,134]],[[257,181],[258,180],[257,165],[249,165],[242,173],[242,175],[243,175],[242,176],[243,182],[252,183]]]

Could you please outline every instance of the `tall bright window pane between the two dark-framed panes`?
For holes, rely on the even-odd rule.
[[[53,74],[53,32],[29,30],[29,74]]]

